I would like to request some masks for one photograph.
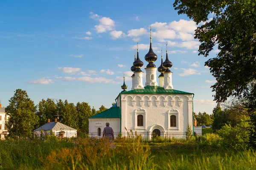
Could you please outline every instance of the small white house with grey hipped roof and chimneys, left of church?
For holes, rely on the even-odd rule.
[[[58,138],[71,138],[77,136],[76,129],[64,125],[61,122],[57,122],[56,118],[54,122],[50,122],[50,119],[48,119],[48,122],[34,130],[34,133],[38,137],[44,137],[50,135],[51,133],[57,136]],[[41,134],[43,136],[41,136]]]

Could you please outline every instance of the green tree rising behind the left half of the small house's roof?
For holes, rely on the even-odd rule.
[[[54,121],[54,118],[57,113],[57,106],[53,99],[47,99],[39,102],[38,112],[36,115],[39,117],[39,125],[42,126],[47,123],[47,119]]]

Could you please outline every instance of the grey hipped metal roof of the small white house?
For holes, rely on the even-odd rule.
[[[65,131],[65,130],[76,130],[72,127],[64,125],[61,122],[49,122],[49,123],[44,124],[41,127],[38,127],[34,131],[40,131],[41,129],[43,129],[43,130],[63,130],[63,131]]]

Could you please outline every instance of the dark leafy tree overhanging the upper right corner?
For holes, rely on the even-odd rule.
[[[220,52],[205,62],[217,82],[214,99],[243,98],[253,122],[250,142],[256,147],[256,2],[252,0],[175,0],[178,14],[186,14],[197,24],[199,54],[207,57],[218,45]],[[209,14],[213,14],[209,20]]]

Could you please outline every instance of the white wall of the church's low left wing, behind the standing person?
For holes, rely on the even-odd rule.
[[[98,128],[101,128],[101,133],[104,130],[104,127],[106,127],[106,122],[109,122],[109,127],[112,127],[114,132],[120,132],[120,118],[95,118],[95,119],[89,119],[89,133],[91,137],[97,137],[98,136]],[[98,137],[102,137],[98,136]]]

